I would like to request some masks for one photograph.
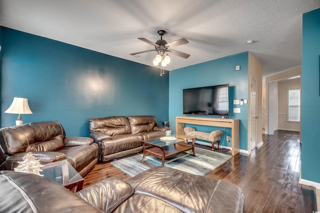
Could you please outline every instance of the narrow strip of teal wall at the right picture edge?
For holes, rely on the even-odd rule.
[[[320,9],[302,16],[301,178],[320,183]]]

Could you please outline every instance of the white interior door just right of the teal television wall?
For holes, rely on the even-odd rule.
[[[250,150],[256,147],[256,80],[251,78],[250,92]]]

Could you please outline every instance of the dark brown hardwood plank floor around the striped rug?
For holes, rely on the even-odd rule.
[[[298,183],[299,132],[277,130],[273,135],[263,135],[262,140],[263,145],[250,155],[237,154],[206,176],[238,185],[243,190],[245,212],[316,211],[313,188]],[[84,177],[83,187],[113,176],[130,178],[109,162],[98,163]]]

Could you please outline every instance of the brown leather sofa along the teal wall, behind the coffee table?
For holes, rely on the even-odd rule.
[[[152,115],[89,119],[90,136],[99,144],[100,162],[141,152],[141,140],[165,136],[168,129],[157,125]]]

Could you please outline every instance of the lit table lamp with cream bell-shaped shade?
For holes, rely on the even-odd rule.
[[[13,101],[8,109],[4,111],[5,113],[19,114],[18,119],[15,120],[15,125],[23,124],[21,114],[32,114],[29,108],[28,98],[25,97],[14,97]]]

